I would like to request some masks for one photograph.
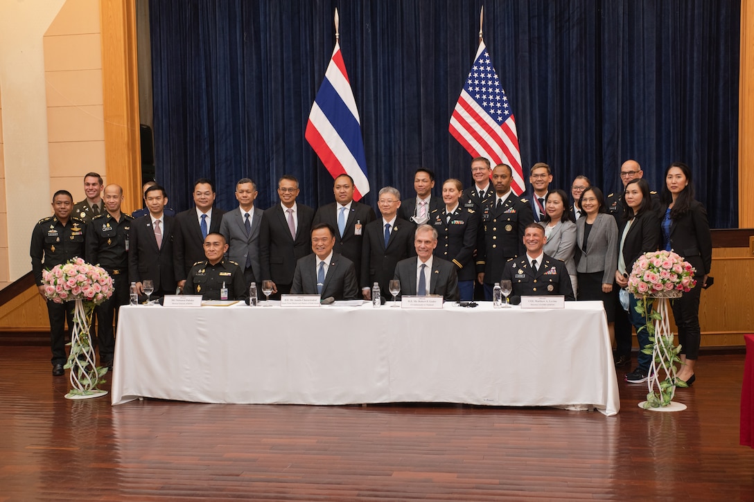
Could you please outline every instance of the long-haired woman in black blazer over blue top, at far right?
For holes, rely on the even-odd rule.
[[[691,385],[696,380],[694,364],[699,354],[699,298],[712,267],[712,234],[703,204],[694,199],[691,170],[682,162],[673,162],[665,171],[659,212],[661,247],[673,250],[696,269],[697,285],[681,298],[673,300],[673,317],[678,326],[682,366],[676,379]]]

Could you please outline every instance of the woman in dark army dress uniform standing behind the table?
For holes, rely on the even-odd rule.
[[[458,291],[461,302],[474,298],[474,251],[477,249],[479,215],[474,209],[461,207],[463,185],[458,179],[443,183],[445,205],[431,213],[428,223],[437,231],[437,247],[434,255],[452,262],[458,267]]]

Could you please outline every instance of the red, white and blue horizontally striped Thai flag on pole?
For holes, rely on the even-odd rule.
[[[361,120],[337,41],[305,137],[333,179],[344,173],[354,179],[354,200],[369,193]]]

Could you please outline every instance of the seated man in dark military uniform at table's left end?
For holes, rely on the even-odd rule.
[[[222,234],[212,232],[204,238],[203,262],[196,262],[186,277],[183,292],[201,295],[204,300],[245,300],[249,295],[244,282],[244,272],[238,263],[224,258],[228,243]],[[222,295],[227,289],[227,298]]]

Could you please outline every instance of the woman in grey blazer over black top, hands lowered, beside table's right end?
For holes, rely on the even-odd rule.
[[[608,317],[610,338],[614,338],[616,294],[613,291],[615,271],[618,270],[618,224],[615,218],[603,213],[605,196],[596,187],[581,194],[582,216],[576,222],[576,271],[578,299],[602,300]]]

